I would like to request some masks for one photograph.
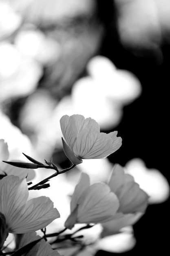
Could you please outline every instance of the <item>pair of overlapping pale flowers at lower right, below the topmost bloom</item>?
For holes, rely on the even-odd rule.
[[[103,223],[104,233],[117,233],[121,227],[134,223],[146,210],[148,195],[133,177],[115,165],[107,184],[90,185],[89,176],[82,173],[71,199],[71,214],[65,227],[75,223]]]

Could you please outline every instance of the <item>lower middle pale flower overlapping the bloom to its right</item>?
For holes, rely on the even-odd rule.
[[[113,218],[119,208],[117,196],[108,185],[90,185],[89,176],[82,173],[71,199],[71,214],[65,227],[71,229],[76,223],[102,223]]]

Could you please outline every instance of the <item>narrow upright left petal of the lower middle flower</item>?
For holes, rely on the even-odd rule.
[[[82,194],[89,188],[90,178],[86,173],[82,173],[79,183],[75,186],[75,191],[71,198],[71,212],[81,203]]]

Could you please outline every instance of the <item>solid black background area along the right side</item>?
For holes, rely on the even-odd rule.
[[[113,40],[114,39],[114,40]],[[114,56],[109,49],[114,47]],[[102,53],[114,59],[120,69],[134,73],[142,84],[139,99],[124,107],[124,116],[115,130],[123,139],[121,148],[109,157],[122,166],[132,158],[144,160],[147,168],[158,169],[169,176],[169,84],[170,46],[162,45],[163,61],[155,63],[152,56],[136,57],[124,49],[119,40],[108,36]],[[150,184],[152,186],[152,184]],[[149,205],[146,214],[134,225],[137,244],[122,255],[167,255],[169,251],[169,202]],[[99,251],[99,255],[117,255]]]

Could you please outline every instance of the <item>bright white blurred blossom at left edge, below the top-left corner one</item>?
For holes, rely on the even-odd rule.
[[[7,42],[0,43],[0,56],[0,101],[31,94],[42,76],[41,65]]]

